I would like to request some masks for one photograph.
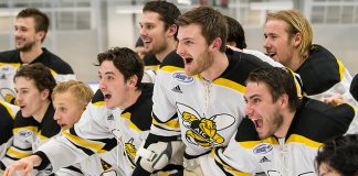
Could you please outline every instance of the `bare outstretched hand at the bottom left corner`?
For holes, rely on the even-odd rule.
[[[12,176],[15,172],[20,172],[21,176],[27,176],[33,169],[34,165],[40,165],[42,162],[41,157],[38,155],[31,155],[20,161],[12,163],[3,173],[3,176]]]

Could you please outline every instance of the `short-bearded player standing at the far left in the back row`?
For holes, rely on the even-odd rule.
[[[0,100],[15,105],[13,76],[23,64],[42,63],[57,81],[75,79],[71,66],[42,47],[49,16],[34,8],[21,10],[14,25],[15,50],[0,53]]]

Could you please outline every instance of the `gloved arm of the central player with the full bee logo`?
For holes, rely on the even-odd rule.
[[[164,66],[157,74],[150,134],[137,152],[136,168],[133,175],[150,175],[164,168],[170,163],[172,156],[183,148],[182,142],[179,141],[180,125],[170,92],[171,73]]]

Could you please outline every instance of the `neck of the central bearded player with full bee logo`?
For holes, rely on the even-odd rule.
[[[207,80],[214,80],[218,78],[229,66],[229,58],[225,53],[213,54],[213,63],[211,66],[202,72],[200,75]]]

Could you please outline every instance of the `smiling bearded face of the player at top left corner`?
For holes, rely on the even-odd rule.
[[[33,46],[41,43],[44,32],[35,31],[33,18],[19,18],[14,25],[15,47],[22,52],[31,51]]]

